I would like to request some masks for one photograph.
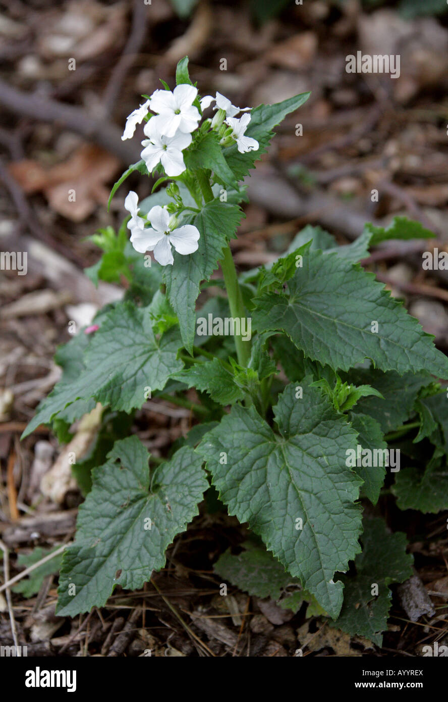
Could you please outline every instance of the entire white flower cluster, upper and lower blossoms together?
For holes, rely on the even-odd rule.
[[[216,111],[208,126],[219,135],[219,143],[228,146],[236,143],[240,153],[256,151],[257,140],[245,136],[250,114],[236,118],[238,112],[248,112],[250,107],[236,107],[228,98],[216,93],[205,95],[198,102],[198,89],[188,84],[180,84],[173,91],[156,90],[151,97],[126,119],[123,140],[130,139],[137,124],[145,121],[143,128],[147,137],[142,141],[142,159],[149,173],[158,164],[162,164],[169,178],[176,178],[186,170],[184,150],[193,141],[192,133],[201,121],[201,112],[194,105],[201,105],[202,110],[215,102]],[[152,112],[153,114],[149,114]],[[146,218],[139,212],[137,194],[131,191],[125,199],[125,208],[130,212],[128,229],[130,241],[136,251],[154,251],[154,258],[161,265],[172,265],[171,245],[177,253],[193,253],[198,249],[200,233],[193,225],[178,227],[177,218],[170,216],[166,207],[153,207]],[[149,227],[147,227],[149,223]]]

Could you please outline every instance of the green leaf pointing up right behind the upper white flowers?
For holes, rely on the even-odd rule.
[[[287,114],[301,107],[309,96],[310,93],[301,93],[301,95],[294,95],[293,98],[288,98],[283,102],[276,102],[275,105],[259,105],[251,110],[250,123],[247,126],[245,136],[256,139],[259,143],[259,149],[247,154],[240,154],[236,144],[224,149],[224,157],[237,180],[243,180],[250,169],[254,167],[255,161],[267,151],[273,137],[273,128],[280,124]]]

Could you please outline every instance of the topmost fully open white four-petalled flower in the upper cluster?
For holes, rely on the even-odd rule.
[[[156,112],[158,131],[164,136],[174,136],[177,131],[190,134],[198,126],[201,114],[193,102],[198,88],[181,84],[174,91],[156,90],[151,95],[151,112]]]

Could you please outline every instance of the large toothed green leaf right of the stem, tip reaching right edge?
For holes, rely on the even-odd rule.
[[[448,359],[433,337],[359,265],[336,253],[307,251],[288,289],[254,299],[257,331],[285,331],[306,356],[335,370],[370,358],[384,371],[448,377]]]

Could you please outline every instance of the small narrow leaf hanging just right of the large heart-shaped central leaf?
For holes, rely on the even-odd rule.
[[[351,425],[355,432],[358,432],[358,443],[362,449],[387,449],[387,444],[384,441],[383,432],[379,423],[369,417],[367,414],[352,414]],[[384,477],[386,476],[385,466],[357,466],[355,472],[364,481],[361,488],[361,495],[366,496],[376,505],[379,498],[380,490],[383,486]]]

